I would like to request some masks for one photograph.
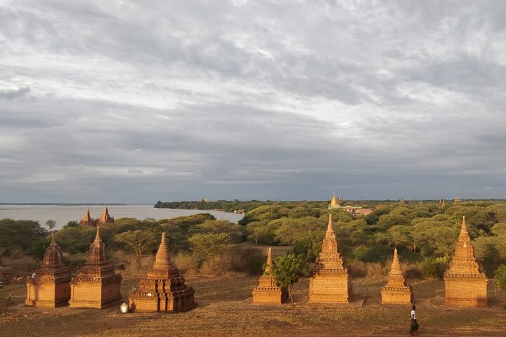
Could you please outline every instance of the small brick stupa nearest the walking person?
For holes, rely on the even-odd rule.
[[[392,260],[387,285],[382,289],[382,303],[413,303],[413,291],[411,290],[411,286],[406,284],[406,279],[404,279],[404,275],[401,270],[401,263],[399,263],[397,256],[397,249],[394,249],[394,260]]]

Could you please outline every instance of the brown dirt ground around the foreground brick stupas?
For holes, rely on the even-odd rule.
[[[126,277],[125,277],[126,278]],[[308,279],[301,279],[290,304],[254,305],[258,277],[187,277],[197,308],[179,314],[119,314],[118,307],[41,309],[25,307],[25,286],[0,289],[0,336],[409,336],[410,307],[381,305],[382,280],[354,279],[348,305],[307,303]],[[126,278],[124,298],[135,278]],[[506,294],[489,282],[488,308],[443,306],[442,281],[410,280],[419,336],[506,336]],[[6,297],[11,295],[11,303]]]

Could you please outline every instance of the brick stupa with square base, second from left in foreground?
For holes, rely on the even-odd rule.
[[[84,267],[70,282],[70,308],[102,309],[115,305],[121,300],[119,287],[122,276],[108,261],[105,244],[100,239],[100,227],[97,227],[95,240],[90,245]]]

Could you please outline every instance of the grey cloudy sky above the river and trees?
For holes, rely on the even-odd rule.
[[[506,198],[505,17],[0,0],[0,202]]]

